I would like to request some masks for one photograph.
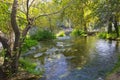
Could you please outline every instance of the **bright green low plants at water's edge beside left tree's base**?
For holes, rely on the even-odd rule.
[[[20,62],[20,68],[24,69],[25,71],[31,74],[40,75],[43,73],[43,71],[35,70],[37,64],[35,62],[31,62],[31,60],[28,58],[26,59],[21,58],[19,62]]]

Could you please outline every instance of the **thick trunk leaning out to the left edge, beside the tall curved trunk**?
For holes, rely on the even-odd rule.
[[[0,67],[0,71],[2,74],[2,78],[7,78],[11,73],[11,49],[10,45],[8,44],[8,39],[6,39],[4,36],[0,35],[0,42],[3,45],[4,48],[4,63],[2,67]]]

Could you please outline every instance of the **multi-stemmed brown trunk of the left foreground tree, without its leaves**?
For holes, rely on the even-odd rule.
[[[3,77],[8,77],[10,74],[14,74],[18,71],[18,60],[21,54],[21,45],[24,42],[24,39],[27,35],[28,30],[31,27],[31,19],[29,18],[29,0],[27,0],[27,26],[24,28],[23,32],[20,32],[20,28],[17,24],[16,15],[18,9],[18,0],[14,0],[12,5],[11,12],[11,28],[14,32],[14,42],[13,47],[10,47],[10,43],[8,42],[8,37],[0,35],[0,42],[4,48],[4,63],[1,67]]]

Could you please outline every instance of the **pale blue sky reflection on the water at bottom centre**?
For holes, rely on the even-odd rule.
[[[45,74],[47,80],[57,80],[63,74],[69,73],[68,64],[63,54],[56,54],[45,59]]]

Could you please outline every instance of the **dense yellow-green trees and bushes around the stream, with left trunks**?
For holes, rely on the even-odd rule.
[[[41,40],[92,33],[119,40],[119,9],[120,0],[0,0],[0,42],[4,53],[0,74],[8,78],[17,73],[21,53]],[[29,34],[35,26],[34,34]],[[70,28],[73,30],[67,34],[65,30]],[[20,62],[29,66],[24,60]]]

